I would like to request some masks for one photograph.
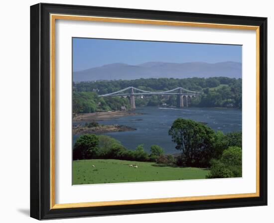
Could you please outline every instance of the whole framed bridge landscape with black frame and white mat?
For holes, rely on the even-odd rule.
[[[30,7],[30,216],[267,205],[267,18]]]

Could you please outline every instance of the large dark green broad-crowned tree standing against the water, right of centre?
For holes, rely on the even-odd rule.
[[[212,158],[214,131],[205,124],[178,118],[168,131],[187,166],[208,166]]]

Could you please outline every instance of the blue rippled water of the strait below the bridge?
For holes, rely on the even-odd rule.
[[[100,124],[119,124],[136,128],[135,131],[110,132],[109,135],[119,140],[126,148],[135,149],[144,144],[146,151],[151,145],[159,145],[165,153],[178,153],[175,144],[168,135],[168,130],[176,118],[186,118],[205,122],[215,131],[224,133],[242,130],[242,110],[224,108],[158,108],[140,107],[135,112],[140,114],[123,116]]]

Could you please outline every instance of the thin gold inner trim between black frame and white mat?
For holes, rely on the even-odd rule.
[[[55,204],[55,21],[56,19],[83,20],[99,22],[119,22],[136,24],[154,24],[171,26],[191,26],[204,28],[226,28],[256,30],[256,193],[210,195],[195,197],[139,199],[107,202],[86,202],[71,204]],[[260,196],[260,27],[249,25],[233,25],[218,23],[183,22],[151,19],[132,19],[115,17],[80,16],[67,14],[50,14],[50,209],[84,208],[114,205],[153,204],[182,201],[202,201],[214,199],[251,198]]]

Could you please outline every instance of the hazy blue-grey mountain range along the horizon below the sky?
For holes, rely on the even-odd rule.
[[[73,72],[73,81],[134,80],[139,78],[192,78],[192,77],[242,77],[242,63],[165,63],[147,62],[138,65],[124,63],[107,64]]]

